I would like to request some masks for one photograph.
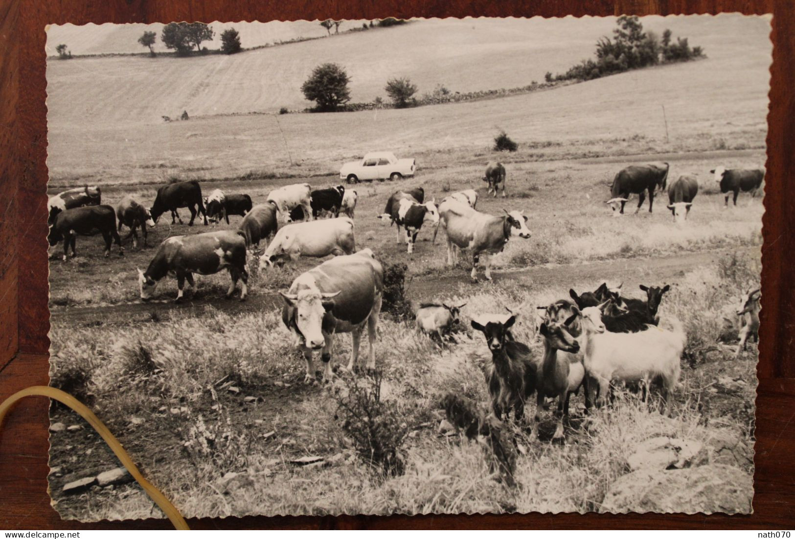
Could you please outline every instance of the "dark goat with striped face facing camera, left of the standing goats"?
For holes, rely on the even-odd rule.
[[[533,353],[526,344],[507,339],[508,330],[516,322],[516,316],[509,316],[505,322],[472,320],[472,328],[483,332],[491,351],[491,365],[486,370],[486,382],[491,396],[491,409],[494,416],[506,420],[511,409],[514,421],[525,417],[525,401],[536,390],[538,365]]]

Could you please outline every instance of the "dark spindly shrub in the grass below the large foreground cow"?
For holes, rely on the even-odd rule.
[[[405,464],[400,448],[409,432],[402,421],[397,403],[381,398],[382,374],[355,376],[337,386],[335,417],[342,421],[343,431],[353,440],[356,453],[364,463],[386,477],[403,475]]]

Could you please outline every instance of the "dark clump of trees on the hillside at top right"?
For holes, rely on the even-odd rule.
[[[596,59],[582,60],[567,72],[553,76],[547,72],[546,81],[591,80],[615,75],[630,69],[646,68],[650,65],[686,62],[704,56],[701,47],[690,47],[688,39],[671,41],[671,30],[662,33],[662,39],[653,32],[644,32],[640,19],[622,15],[616,21],[613,39],[602,37],[596,42]]]

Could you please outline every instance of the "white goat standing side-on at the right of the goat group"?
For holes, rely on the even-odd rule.
[[[670,414],[669,394],[677,388],[679,361],[687,342],[679,320],[673,331],[656,326],[637,333],[606,332],[599,307],[584,308],[582,339],[585,370],[599,384],[599,405],[610,390],[610,382],[645,382],[658,376],[663,382],[665,413]]]

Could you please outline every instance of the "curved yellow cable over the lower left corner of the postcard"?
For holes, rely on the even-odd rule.
[[[180,514],[179,510],[173,506],[171,502],[169,502],[169,498],[166,498],[161,491],[158,491],[157,488],[152,484],[149,483],[144,476],[141,474],[141,471],[138,470],[138,467],[135,466],[135,463],[132,459],[130,459],[130,455],[122,448],[122,444],[116,440],[116,437],[111,434],[111,431],[107,429],[105,424],[102,421],[99,421],[99,417],[96,417],[93,412],[86,405],[82,402],[78,401],[75,397],[68,393],[64,393],[61,390],[56,390],[54,387],[48,386],[30,386],[25,388],[24,390],[17,391],[17,393],[8,397],[5,401],[0,404],[0,428],[2,428],[2,422],[6,419],[6,413],[11,409],[17,401],[24,397],[31,397],[34,395],[38,395],[41,397],[49,397],[55,399],[56,401],[60,401],[67,405],[69,408],[73,409],[75,412],[79,413],[84,420],[88,421],[94,430],[99,433],[99,436],[103,437],[105,443],[111,448],[111,451],[115,453],[118,457],[118,460],[122,461],[124,467],[126,467],[127,471],[130,472],[138,484],[143,487],[146,494],[149,494],[149,498],[152,498],[153,502],[157,503],[157,506],[161,508],[165,516],[169,518],[171,523],[174,525],[176,529],[190,529],[188,528],[188,523],[185,522],[185,519],[182,518],[182,514]]]

